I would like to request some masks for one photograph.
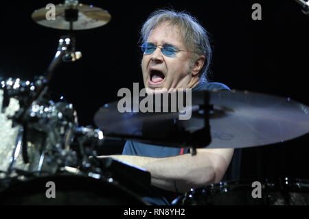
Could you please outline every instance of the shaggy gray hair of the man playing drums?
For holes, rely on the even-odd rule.
[[[157,10],[152,12],[147,21],[141,28],[141,42],[144,43],[148,40],[150,32],[161,23],[168,21],[170,25],[179,27],[183,34],[183,42],[187,48],[192,48],[198,55],[205,55],[205,64],[198,73],[201,81],[207,81],[207,73],[211,61],[211,47],[207,31],[202,27],[196,18],[187,12],[175,12],[174,10]],[[192,58],[196,59],[197,55]]]

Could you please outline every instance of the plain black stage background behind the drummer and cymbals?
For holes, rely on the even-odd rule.
[[[6,1],[0,13],[0,76],[33,81],[42,75],[66,31],[34,23],[31,14],[47,3]],[[98,29],[78,31],[82,59],[62,64],[52,79],[54,101],[73,103],[80,125],[94,125],[104,103],[115,101],[119,88],[142,83],[139,29],[158,8],[186,10],[209,31],[214,56],[213,81],[236,90],[288,96],[309,105],[309,17],[295,1],[80,1],[104,8],[111,22]],[[262,5],[262,21],[253,21],[253,3]],[[242,178],[293,176],[309,178],[308,137],[284,144],[243,149]],[[117,144],[108,153],[120,153]],[[104,150],[103,150],[104,151]]]

